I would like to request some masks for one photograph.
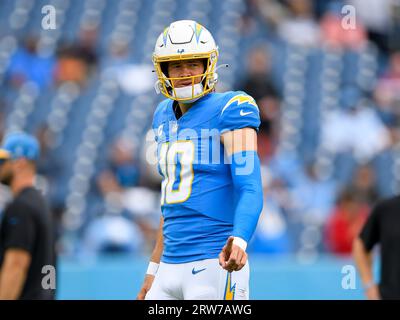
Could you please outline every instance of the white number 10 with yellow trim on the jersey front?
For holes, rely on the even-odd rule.
[[[194,179],[194,151],[193,142],[188,140],[161,145],[158,162],[163,176],[161,205],[181,203],[189,199]]]

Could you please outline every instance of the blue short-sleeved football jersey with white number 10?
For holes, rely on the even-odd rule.
[[[242,91],[207,94],[179,119],[172,100],[158,105],[153,130],[163,177],[163,262],[218,257],[232,233],[237,202],[220,137],[259,125],[258,107]]]

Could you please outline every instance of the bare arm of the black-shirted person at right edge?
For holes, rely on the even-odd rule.
[[[353,258],[360,272],[361,281],[365,288],[365,295],[369,300],[379,300],[380,294],[374,282],[372,272],[373,254],[368,252],[360,238],[356,238],[353,243]]]

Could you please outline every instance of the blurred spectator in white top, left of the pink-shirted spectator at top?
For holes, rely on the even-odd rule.
[[[278,26],[278,34],[293,45],[314,47],[320,38],[312,2],[310,0],[287,0],[290,16]]]

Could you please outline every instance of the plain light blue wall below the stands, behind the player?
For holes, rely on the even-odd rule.
[[[147,259],[140,256],[61,258],[57,268],[57,298],[135,299]],[[364,299],[359,277],[353,282],[355,288],[346,278],[349,265],[353,266],[352,260],[331,256],[308,263],[299,263],[292,256],[252,256],[250,298]],[[350,288],[344,289],[343,284]]]

